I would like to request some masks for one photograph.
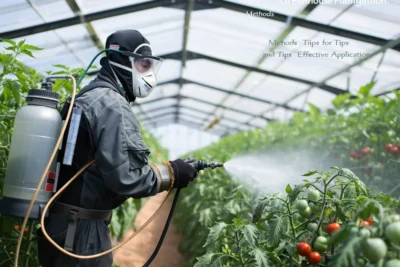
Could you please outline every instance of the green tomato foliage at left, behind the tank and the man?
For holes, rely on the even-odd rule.
[[[34,69],[22,64],[18,58],[21,55],[33,57],[33,53],[41,50],[38,47],[26,44],[24,40],[15,42],[1,39],[7,46],[4,52],[0,51],[0,198],[2,196],[3,181],[7,167],[9,146],[11,143],[14,118],[17,109],[25,104],[25,97],[29,89],[39,88],[43,77]],[[82,69],[69,68],[64,65],[55,65],[57,70],[47,74],[70,74],[78,78],[83,73]],[[56,81],[53,90],[65,100],[71,93],[71,84],[65,81]],[[160,162],[168,158],[167,150],[162,148],[158,140],[145,129],[141,129],[142,137],[151,151],[158,151],[150,155],[150,162]],[[129,199],[119,208],[113,210],[110,230],[115,238],[121,238],[132,226],[140,208],[142,200]],[[21,230],[22,219],[6,217],[0,214],[0,266],[13,266],[15,244]],[[39,266],[36,246],[37,221],[30,220],[24,229],[22,253],[20,262],[23,266]]]

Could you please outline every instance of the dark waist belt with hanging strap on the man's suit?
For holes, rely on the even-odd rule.
[[[61,214],[68,217],[68,228],[65,236],[64,249],[72,252],[74,247],[75,231],[78,219],[84,220],[109,220],[112,210],[93,210],[56,202],[50,213]]]

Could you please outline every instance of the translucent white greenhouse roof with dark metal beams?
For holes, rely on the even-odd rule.
[[[160,86],[133,106],[144,125],[204,129],[217,118],[210,132],[225,135],[285,121],[308,102],[326,110],[372,80],[375,95],[400,89],[400,2],[368,1],[385,3],[3,0],[0,37],[44,48],[21,58],[44,73],[85,68],[110,33],[137,29],[165,58]]]

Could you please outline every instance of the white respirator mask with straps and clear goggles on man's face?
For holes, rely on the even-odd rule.
[[[138,51],[143,46],[150,47],[149,44],[144,43],[139,45],[133,52],[123,51],[123,55],[128,56],[129,58],[129,62],[131,65],[130,67],[109,60],[109,63],[111,65],[124,69],[131,73],[132,94],[138,98],[149,96],[154,87],[157,86],[156,75],[163,61],[163,59],[160,57],[137,54],[136,51]],[[115,77],[117,78],[116,75]]]

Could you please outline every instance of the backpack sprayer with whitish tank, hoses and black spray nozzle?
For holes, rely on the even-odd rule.
[[[129,236],[124,242],[107,251],[95,255],[76,255],[64,250],[47,234],[44,219],[47,210],[57,197],[95,160],[88,162],[71,179],[57,190],[57,178],[60,170],[60,163],[57,162],[58,151],[61,150],[61,142],[72,114],[75,102],[76,88],[86,76],[94,60],[105,51],[115,49],[104,49],[100,51],[90,62],[85,72],[80,77],[78,84],[71,75],[50,75],[44,78],[41,89],[31,89],[26,97],[27,104],[20,108],[15,117],[14,131],[8,157],[7,172],[4,181],[3,199],[0,200],[0,212],[4,215],[23,217],[20,235],[17,242],[14,266],[18,267],[19,251],[22,243],[24,229],[28,219],[39,219],[42,225],[43,235],[61,252],[68,256],[79,259],[92,259],[101,257],[120,248],[134,236],[140,233],[159,213],[166,203],[168,195],[156,210],[156,212],[143,224],[135,233]],[[52,81],[55,79],[69,79],[72,82],[71,103],[65,121],[57,108],[60,106],[59,94],[52,92]],[[222,163],[191,160],[190,163],[198,171],[205,168],[215,169],[223,167]],[[40,177],[40,179],[39,179]],[[44,181],[46,180],[46,184]],[[156,249],[149,260],[143,266],[149,266],[160,249],[168,226],[172,219],[180,189],[176,190],[168,219],[161,234]]]

